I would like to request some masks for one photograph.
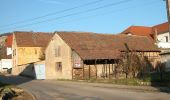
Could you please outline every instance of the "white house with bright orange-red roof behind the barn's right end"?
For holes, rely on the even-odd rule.
[[[148,36],[155,41],[159,48],[168,49],[170,48],[170,33],[168,27],[168,22],[152,27],[130,26],[120,34]]]

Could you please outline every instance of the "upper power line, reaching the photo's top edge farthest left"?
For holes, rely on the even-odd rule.
[[[64,12],[67,12],[67,11],[70,11],[70,10],[74,10],[74,9],[82,8],[82,7],[85,7],[85,6],[97,4],[97,3],[102,2],[102,1],[103,0],[96,0],[96,1],[93,1],[93,2],[88,2],[86,4],[82,4],[82,5],[79,5],[79,6],[72,7],[72,8],[68,8],[68,9],[48,13],[48,14],[45,14],[45,15],[42,15],[42,16],[39,16],[39,17],[34,17],[34,18],[26,19],[26,20],[21,20],[21,21],[17,21],[17,22],[11,23],[11,24],[1,25],[0,27],[8,27],[8,26],[12,26],[12,25],[15,25],[15,24],[22,24],[22,23],[38,20],[38,19],[45,18],[45,17],[48,17],[48,16],[56,15],[56,14],[59,14],[59,13],[64,13]]]

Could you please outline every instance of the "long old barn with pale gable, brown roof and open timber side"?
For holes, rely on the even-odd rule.
[[[46,48],[47,79],[108,77],[126,51],[157,59],[160,50],[146,36],[56,32]]]

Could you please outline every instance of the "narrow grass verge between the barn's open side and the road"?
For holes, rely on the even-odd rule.
[[[150,75],[145,76],[143,79],[138,78],[123,78],[123,79],[95,79],[91,78],[86,80],[65,80],[60,79],[61,81],[75,81],[75,82],[88,82],[88,83],[107,83],[107,84],[118,84],[118,85],[133,85],[133,86],[141,86],[141,85],[153,85],[153,84],[161,84],[165,86],[169,86],[170,84],[170,72],[163,73],[163,79],[161,80],[160,73],[151,73]]]

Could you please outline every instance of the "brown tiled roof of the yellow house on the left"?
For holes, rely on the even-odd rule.
[[[18,47],[46,47],[52,33],[45,32],[14,32],[16,43]]]

